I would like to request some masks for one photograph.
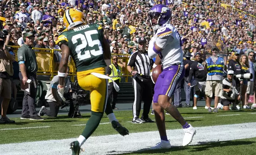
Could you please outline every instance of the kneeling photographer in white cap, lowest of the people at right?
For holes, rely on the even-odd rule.
[[[240,100],[240,95],[236,89],[236,82],[233,79],[235,72],[229,70],[227,78],[223,79],[223,95],[221,96],[221,103],[218,103],[217,109],[229,110],[229,104],[233,103],[232,110],[238,110],[237,104]]]

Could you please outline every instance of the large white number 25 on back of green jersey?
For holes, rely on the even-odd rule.
[[[72,43],[76,44],[78,43],[78,39],[81,40],[81,44],[76,46],[76,53],[78,55],[79,60],[84,60],[91,58],[91,55],[97,56],[103,54],[103,49],[101,46],[101,42],[97,40],[92,40],[91,35],[98,34],[97,30],[89,30],[85,32],[85,35],[83,34],[76,34],[72,37]],[[94,49],[95,45],[97,45]],[[87,47],[89,46],[89,48]],[[91,50],[89,50],[91,49]],[[97,51],[96,51],[97,50]],[[84,52],[83,55],[81,53]]]

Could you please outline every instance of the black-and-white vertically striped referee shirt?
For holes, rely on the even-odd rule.
[[[138,50],[132,53],[127,65],[134,67],[134,70],[137,71],[138,74],[148,76],[150,74],[150,69],[153,63],[153,60],[147,56],[147,51],[142,53]]]

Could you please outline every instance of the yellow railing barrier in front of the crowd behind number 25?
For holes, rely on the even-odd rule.
[[[12,47],[15,54],[15,60],[17,61],[17,51],[19,49],[19,46],[8,46]],[[50,76],[50,79],[52,79],[54,76],[58,75],[58,68],[59,68],[59,61],[61,56],[61,50],[60,49],[44,49],[44,48],[33,48],[35,50],[35,55],[37,59],[37,65],[38,65],[38,71],[37,75],[42,76]],[[113,55],[113,54],[112,54]],[[118,60],[121,60],[124,64],[124,68],[121,69],[121,77],[125,78],[125,81],[128,81],[128,77],[132,76],[130,73],[128,73],[126,69],[126,65],[128,64],[128,60],[130,55],[125,54],[115,54],[118,56]],[[111,58],[112,62],[112,58]],[[68,76],[71,77],[71,81],[75,81],[76,76],[76,65],[74,63],[74,60],[70,57],[68,66],[70,68],[70,73]]]

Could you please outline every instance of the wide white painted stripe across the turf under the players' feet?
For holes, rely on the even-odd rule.
[[[196,135],[190,145],[200,145],[207,142],[220,142],[256,137],[256,123],[242,123],[233,125],[217,125],[196,128]],[[244,129],[250,132],[244,132]],[[209,131],[211,131],[209,136]],[[181,146],[183,130],[167,130],[167,136],[172,146]],[[79,135],[78,135],[79,136]],[[76,138],[62,140],[44,140],[0,145],[3,155],[70,155],[70,142]],[[121,154],[147,149],[160,141],[159,132],[130,133],[127,136],[120,134],[90,137],[83,144],[85,148],[81,155],[110,155]],[[170,149],[171,151],[171,149]]]

